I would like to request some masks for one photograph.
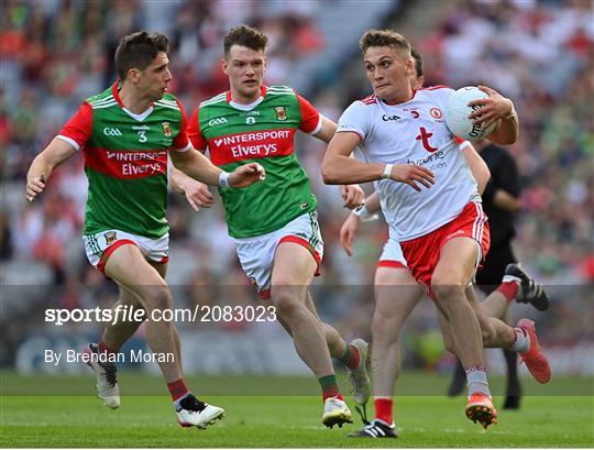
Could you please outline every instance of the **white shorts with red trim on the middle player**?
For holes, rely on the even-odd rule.
[[[274,254],[282,242],[294,242],[309,250],[318,263],[315,275],[320,274],[323,241],[316,211],[299,216],[276,231],[234,239],[234,242],[243,272],[263,298],[270,295]]]

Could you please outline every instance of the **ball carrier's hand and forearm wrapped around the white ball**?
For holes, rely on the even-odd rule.
[[[476,123],[481,123],[483,129],[497,122],[495,130],[486,139],[499,145],[513,144],[517,141],[519,132],[518,114],[514,102],[490,87],[479,86],[479,89],[488,94],[488,97],[471,101],[470,106],[480,106],[481,108],[469,117],[474,119]]]

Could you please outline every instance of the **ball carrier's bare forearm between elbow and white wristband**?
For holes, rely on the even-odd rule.
[[[361,163],[349,156],[327,154],[322,162],[322,178],[327,185],[351,185],[382,178],[384,163]]]

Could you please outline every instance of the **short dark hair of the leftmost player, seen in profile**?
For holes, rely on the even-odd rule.
[[[118,76],[123,81],[131,68],[144,70],[160,52],[169,53],[169,40],[164,34],[138,31],[124,36],[116,50]]]

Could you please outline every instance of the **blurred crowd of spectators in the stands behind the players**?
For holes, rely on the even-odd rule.
[[[552,297],[546,314],[536,315],[526,307],[519,310],[538,317],[544,343],[593,341],[592,3],[432,2],[432,8],[443,10],[440,14],[429,14],[415,2],[387,3],[393,7],[384,9],[387,12],[375,28],[399,31],[411,14],[432,21],[431,32],[413,42],[425,58],[426,85],[484,84],[514,99],[521,131],[510,151],[524,187],[515,249],[524,266],[548,285]],[[78,105],[114,81],[113,53],[123,35],[146,29],[170,39],[172,90],[189,114],[200,101],[228,89],[220,57],[222,37],[231,26],[248,23],[265,32],[270,36],[266,83],[292,85],[299,64],[326,57],[328,42],[336,40],[326,26],[333,20],[328,9],[353,4],[348,0],[4,1],[0,31],[2,283],[55,288],[43,298],[31,295],[30,301],[21,296],[11,310],[2,308],[3,322],[14,319],[3,326],[2,339],[14,343],[26,328],[25,318],[38,316],[40,308],[108,307],[117,296],[113,285],[88,264],[81,244],[87,194],[82,156],[56,171],[34,204],[24,201],[24,180],[33,157]],[[320,65],[315,77],[298,86],[301,95],[333,120],[352,100],[370,94],[356,45],[361,33],[353,35],[349,26],[338,28],[344,33],[340,36],[342,54],[334,55],[332,50],[328,61],[341,63]],[[342,207],[338,188],[321,182],[323,150],[315,139],[298,139],[299,158],[318,196],[326,242],[322,276],[316,279],[314,298],[322,317],[346,337],[369,337],[373,311],[369,285],[387,231],[383,222],[364,224],[354,256],[346,256],[338,238],[349,211]],[[209,286],[248,286],[224,232],[220,202],[195,212],[183,196],[172,194],[168,220],[167,278],[176,286],[176,306],[206,301],[202,294]],[[348,288],[354,285],[367,287],[363,292]],[[424,301],[409,329],[422,332],[435,323],[435,307]],[[193,326],[198,325],[182,327]]]

